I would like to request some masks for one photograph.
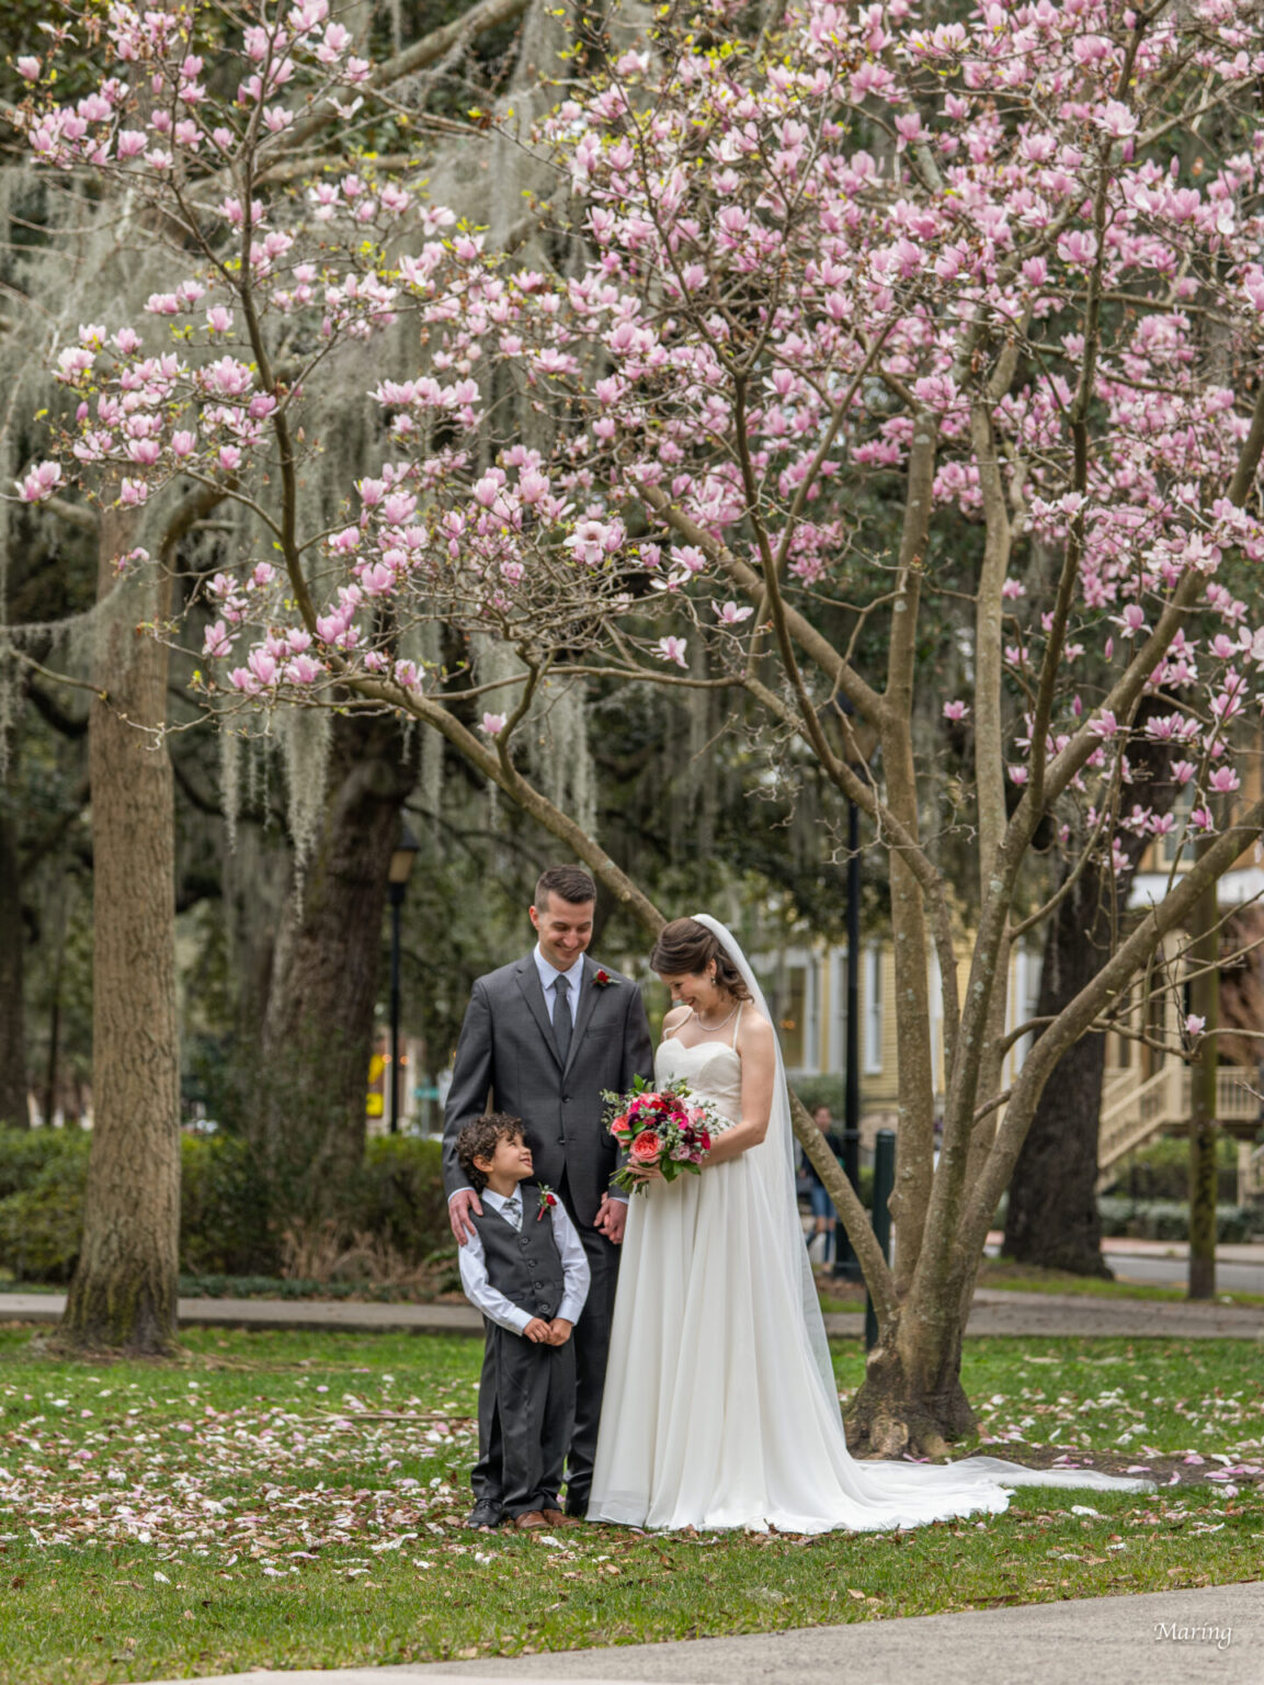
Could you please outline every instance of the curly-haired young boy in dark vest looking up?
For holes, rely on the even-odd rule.
[[[584,1308],[589,1267],[560,1200],[523,1186],[532,1153],[522,1119],[488,1112],[468,1122],[456,1156],[483,1213],[461,1247],[461,1286],[486,1324],[478,1383],[478,1463],[468,1527],[502,1520],[525,1532],[566,1527],[557,1501],[576,1419],[571,1329]]]

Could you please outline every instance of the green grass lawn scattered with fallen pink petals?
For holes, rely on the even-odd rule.
[[[968,1341],[986,1449],[1160,1490],[811,1540],[463,1532],[478,1361],[475,1340],[189,1329],[177,1363],[86,1365],[0,1329],[0,1680],[767,1631],[1242,1581],[1264,1555],[1249,1341]],[[836,1367],[853,1388],[858,1345]]]

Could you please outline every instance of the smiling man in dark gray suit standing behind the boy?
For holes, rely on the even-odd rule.
[[[456,1136],[485,1110],[523,1121],[534,1174],[559,1195],[579,1230],[592,1272],[576,1343],[576,1431],[567,1459],[567,1515],[587,1511],[606,1383],[609,1326],[628,1205],[611,1195],[618,1168],[614,1139],[601,1124],[603,1089],[624,1094],[636,1077],[653,1077],[653,1046],[641,991],[629,977],[596,966],[596,886],[582,866],[552,866],[535,885],[530,920],[539,942],[525,959],[475,982],[466,1008],[443,1127],[443,1176],[456,1240],[481,1215],[456,1159]],[[500,1520],[500,1493],[480,1459],[473,1476],[471,1525]]]

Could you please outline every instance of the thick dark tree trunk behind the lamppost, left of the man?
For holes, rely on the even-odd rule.
[[[394,718],[333,719],[328,794],[276,945],[259,1146],[281,1222],[328,1215],[360,1168],[387,866],[416,757]]]

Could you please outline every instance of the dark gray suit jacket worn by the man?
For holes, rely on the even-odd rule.
[[[466,1188],[456,1159],[461,1124],[491,1109],[523,1122],[535,1180],[559,1188],[566,1176],[574,1217],[592,1227],[618,1169],[618,1147],[601,1124],[603,1089],[623,1094],[653,1077],[655,1056],[641,991],[609,967],[582,959],[579,1009],[566,1070],[557,1056],[535,955],[480,977],[470,996],[443,1121],[443,1180]],[[594,982],[597,971],[609,982]]]

